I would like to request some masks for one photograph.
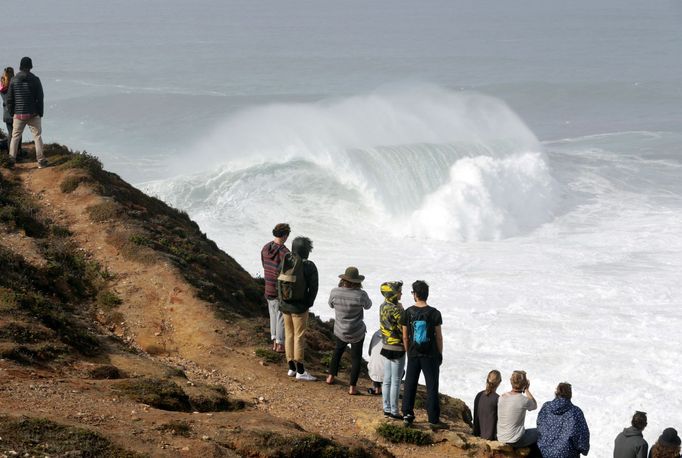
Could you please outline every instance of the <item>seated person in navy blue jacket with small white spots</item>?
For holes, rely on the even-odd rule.
[[[571,402],[570,383],[560,383],[556,398],[538,414],[538,448],[543,458],[578,458],[590,451],[590,430],[583,411]]]

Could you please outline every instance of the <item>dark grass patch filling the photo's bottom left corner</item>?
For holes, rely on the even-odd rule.
[[[14,450],[17,456],[145,456],[118,447],[94,431],[60,425],[41,418],[0,416],[0,437],[0,447],[3,450]]]

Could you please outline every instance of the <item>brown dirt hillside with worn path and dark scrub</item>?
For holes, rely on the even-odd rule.
[[[392,443],[379,397],[288,378],[261,282],[94,156],[46,153],[0,168],[0,456],[515,456],[462,401],[443,396],[449,431],[419,412],[430,445]]]

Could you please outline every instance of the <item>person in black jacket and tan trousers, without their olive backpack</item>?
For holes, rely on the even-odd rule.
[[[284,335],[286,336],[286,356],[289,363],[287,375],[296,380],[313,382],[316,377],[310,375],[303,365],[305,358],[305,331],[308,328],[308,310],[315,303],[318,290],[317,267],[308,260],[313,250],[313,241],[307,237],[296,237],[291,243],[291,253],[284,257],[284,269],[296,270],[294,262],[302,263],[303,292],[301,299],[285,300],[280,297],[280,309],[284,315]],[[296,282],[300,282],[296,278]],[[296,286],[293,286],[296,288]]]

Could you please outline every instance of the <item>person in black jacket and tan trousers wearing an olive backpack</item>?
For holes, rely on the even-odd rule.
[[[289,364],[287,375],[305,382],[317,380],[303,365],[308,310],[315,303],[318,288],[317,267],[308,260],[312,250],[312,240],[296,237],[291,242],[291,253],[284,256],[277,278],[279,308],[284,318],[284,347]]]

